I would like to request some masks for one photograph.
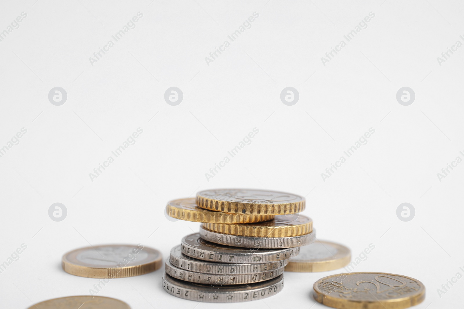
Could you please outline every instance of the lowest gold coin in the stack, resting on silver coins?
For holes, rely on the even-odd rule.
[[[313,221],[302,214],[276,215],[274,220],[246,224],[203,223],[207,230],[251,237],[289,237],[311,233]]]

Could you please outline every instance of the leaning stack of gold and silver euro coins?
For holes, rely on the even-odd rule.
[[[180,220],[203,223],[166,261],[163,288],[203,302],[257,300],[284,286],[284,267],[314,242],[312,220],[298,214],[302,196],[253,189],[214,189],[168,203]]]

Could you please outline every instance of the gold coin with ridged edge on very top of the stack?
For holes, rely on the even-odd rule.
[[[303,196],[258,189],[213,189],[197,193],[201,208],[229,214],[296,214],[305,207]]]

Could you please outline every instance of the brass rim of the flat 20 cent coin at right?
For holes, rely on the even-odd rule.
[[[322,282],[325,279],[332,277],[340,277],[343,275],[352,275],[352,274],[379,274],[379,275],[390,275],[408,278],[412,281],[415,281],[420,289],[417,294],[412,296],[394,298],[394,299],[384,299],[378,301],[362,301],[362,300],[349,300],[338,297],[330,296],[329,294],[324,294],[322,291],[317,290],[317,284]],[[425,285],[419,280],[399,274],[392,274],[388,272],[376,272],[376,271],[358,271],[358,272],[345,272],[335,275],[326,276],[320,278],[313,284],[313,297],[314,300],[323,305],[338,308],[338,309],[405,309],[412,306],[416,306],[419,303],[422,303],[425,299]]]

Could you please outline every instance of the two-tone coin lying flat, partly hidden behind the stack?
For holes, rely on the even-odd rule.
[[[300,254],[291,258],[285,271],[316,272],[342,268],[351,260],[350,250],[331,241],[316,240],[311,245],[302,246]]]

